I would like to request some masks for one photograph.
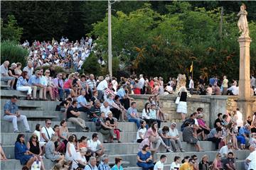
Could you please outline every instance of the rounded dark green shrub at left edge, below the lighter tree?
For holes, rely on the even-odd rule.
[[[24,49],[20,45],[16,45],[15,42],[1,42],[1,63],[6,60],[8,60],[10,63],[21,62],[22,66],[24,67],[26,65],[27,56],[28,50]]]

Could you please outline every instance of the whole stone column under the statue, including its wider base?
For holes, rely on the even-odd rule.
[[[238,107],[243,113],[243,120],[252,115],[252,99],[250,99],[250,42],[249,36],[240,36],[240,68],[239,68],[239,98]]]

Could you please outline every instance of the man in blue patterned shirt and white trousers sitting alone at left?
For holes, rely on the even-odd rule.
[[[14,126],[14,132],[20,133],[18,131],[18,125],[17,121],[23,121],[23,125],[26,127],[26,132],[31,132],[28,120],[26,118],[26,115],[21,115],[21,113],[18,112],[18,106],[16,105],[16,102],[18,101],[17,96],[12,96],[11,101],[7,101],[4,105],[4,120],[10,121],[13,123]]]

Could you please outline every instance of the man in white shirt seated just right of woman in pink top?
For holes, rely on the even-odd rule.
[[[185,152],[184,149],[182,149],[181,140],[179,137],[178,130],[176,129],[176,123],[171,123],[171,128],[169,130],[169,134],[171,137],[171,146],[174,149],[174,152],[177,152],[178,148],[181,150],[181,152]],[[178,145],[178,148],[177,148]]]

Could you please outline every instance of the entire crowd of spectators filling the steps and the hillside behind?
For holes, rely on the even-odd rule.
[[[24,42],[24,47],[30,50],[28,63],[21,69],[21,63],[9,61],[1,65],[1,81],[6,81],[7,89],[26,91],[27,100],[60,101],[56,111],[63,111],[64,120],[60,125],[51,127],[51,121],[46,120],[44,126],[36,125],[35,131],[28,142],[25,135],[18,130],[17,121],[22,121],[26,132],[31,132],[26,115],[21,115],[16,102],[17,96],[4,105],[4,120],[11,122],[14,132],[18,133],[15,143],[15,158],[21,164],[30,168],[34,162],[41,162],[44,168],[43,158],[50,159],[55,164],[53,169],[110,169],[109,159],[105,154],[102,143],[112,143],[115,140],[122,142],[118,122],[129,121],[137,125],[137,139],[139,143],[137,154],[137,166],[143,169],[161,170],[166,161],[166,155],[161,155],[156,162],[156,153],[185,152],[181,143],[181,135],[176,128],[176,123],[171,126],[162,126],[166,122],[166,114],[159,101],[159,95],[174,94],[177,96],[177,113],[181,113],[183,124],[181,125],[184,142],[196,147],[198,152],[203,152],[202,140],[215,143],[218,154],[213,162],[208,161],[204,155],[198,163],[196,155],[192,157],[175,157],[171,169],[236,169],[235,152],[238,149],[250,149],[250,156],[246,159],[247,169],[255,169],[256,147],[256,113],[252,118],[247,118],[247,123],[242,120],[239,108],[232,115],[219,113],[215,120],[214,128],[210,128],[203,119],[203,108],[198,108],[188,115],[186,99],[191,94],[200,95],[237,95],[238,82],[228,88],[228,79],[223,77],[220,81],[217,77],[210,78],[209,85],[205,89],[206,81],[203,77],[198,80],[198,89],[194,91],[192,77],[179,75],[178,79],[170,78],[164,85],[162,77],[144,77],[140,74],[132,74],[129,78],[117,78],[106,75],[95,77],[93,74],[80,74],[81,63],[86,60],[88,52],[92,49],[92,39],[86,38],[75,43],[62,38],[60,43],[33,42],[31,47]],[[80,62],[82,61],[82,62]],[[48,65],[50,69],[37,69],[38,66]],[[55,66],[75,68],[74,73],[65,74],[55,72]],[[36,70],[36,71],[34,71]],[[220,85],[221,84],[221,85]],[[255,93],[255,78],[251,77],[252,94]],[[188,88],[187,88],[188,87]],[[37,96],[39,91],[39,96]],[[142,115],[137,111],[137,103],[130,94],[151,94],[144,105]],[[50,98],[49,98],[50,97]],[[98,133],[94,133],[91,139],[82,136],[80,139],[75,134],[68,132],[67,123],[72,122],[80,126],[80,131],[88,132],[87,120],[95,123],[98,133],[103,136],[99,140]],[[6,159],[1,149],[1,158]],[[115,159],[112,169],[122,169],[122,158]]]

